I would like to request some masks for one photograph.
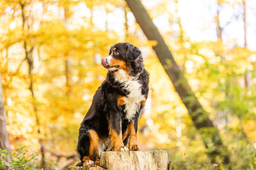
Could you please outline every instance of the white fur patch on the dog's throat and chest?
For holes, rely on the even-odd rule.
[[[132,120],[139,110],[141,101],[144,100],[144,95],[142,95],[142,84],[139,84],[137,79],[130,77],[122,69],[119,69],[114,76],[116,81],[124,84],[124,88],[129,91],[129,95],[124,98],[126,112],[125,118]]]

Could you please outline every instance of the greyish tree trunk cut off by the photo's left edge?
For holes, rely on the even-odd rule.
[[[4,110],[4,100],[1,89],[1,74],[0,74],[0,149],[6,149],[11,154],[9,135],[6,129],[6,112]],[[10,157],[6,157],[6,162],[10,161]]]

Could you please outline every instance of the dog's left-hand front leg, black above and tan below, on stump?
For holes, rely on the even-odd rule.
[[[122,120],[117,114],[111,114],[109,118],[109,133],[113,151],[128,151],[122,142]]]

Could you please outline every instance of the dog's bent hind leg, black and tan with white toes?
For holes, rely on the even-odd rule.
[[[95,160],[98,159],[99,136],[95,130],[88,130],[79,135],[78,153],[83,166],[94,166]]]

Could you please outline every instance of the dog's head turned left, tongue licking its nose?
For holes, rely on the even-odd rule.
[[[136,76],[143,69],[142,52],[128,42],[120,42],[110,48],[108,57],[102,58],[102,66],[110,71],[124,70]]]

